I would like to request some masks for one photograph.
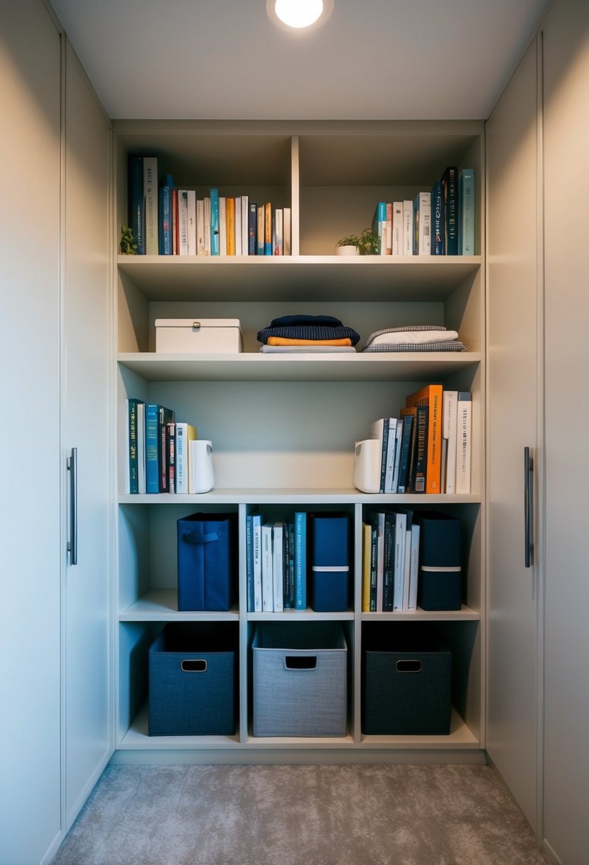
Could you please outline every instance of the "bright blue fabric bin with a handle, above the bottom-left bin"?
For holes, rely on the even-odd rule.
[[[177,522],[178,609],[231,610],[237,599],[237,514],[192,514]]]

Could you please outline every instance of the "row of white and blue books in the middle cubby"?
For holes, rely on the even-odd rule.
[[[245,521],[248,612],[307,608],[307,513],[292,521],[266,522],[262,513]]]

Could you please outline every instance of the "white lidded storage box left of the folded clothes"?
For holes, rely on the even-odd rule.
[[[155,319],[155,351],[231,354],[243,350],[238,318]]]

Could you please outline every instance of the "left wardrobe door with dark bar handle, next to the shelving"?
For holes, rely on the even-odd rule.
[[[75,448],[77,462],[77,555],[65,569],[66,829],[111,755],[110,140],[66,43],[64,456]]]

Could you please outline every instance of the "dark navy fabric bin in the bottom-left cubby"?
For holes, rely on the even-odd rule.
[[[235,733],[237,628],[174,622],[149,648],[149,735]]]

